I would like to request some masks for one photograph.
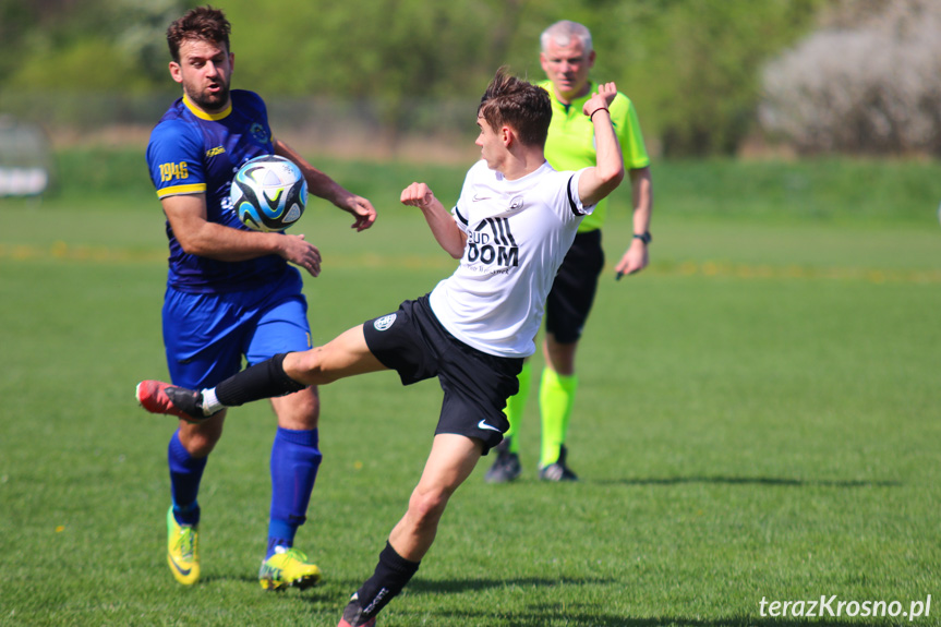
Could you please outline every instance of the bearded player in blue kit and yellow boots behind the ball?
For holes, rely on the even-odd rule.
[[[352,194],[273,136],[257,94],[230,91],[234,56],[230,24],[212,7],[191,10],[167,31],[170,75],[183,89],[157,123],[147,164],[167,217],[170,256],[164,301],[164,342],[171,379],[200,388],[277,353],[306,350],[311,333],[300,272],[316,277],[321,255],[303,234],[249,230],[232,210],[229,189],[239,167],[260,155],[281,155],[304,173],[310,192],[372,226],[372,204]],[[316,565],[293,547],[321,463],[317,389],[272,399],[278,427],[270,457],[267,552],[258,574],[268,590],[306,588]],[[167,559],[180,583],[200,578],[197,495],[206,459],[222,435],[225,412],[180,421],[168,460],[172,505]]]

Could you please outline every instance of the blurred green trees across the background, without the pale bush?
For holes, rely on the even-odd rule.
[[[938,3],[898,0],[919,1]],[[0,107],[4,92],[52,98],[75,92],[166,94],[174,87],[167,74],[166,27],[200,3],[0,0]],[[269,101],[370,101],[372,114],[398,132],[417,123],[417,103],[434,103],[439,109],[459,103],[461,110],[475,104],[499,65],[530,80],[542,79],[540,33],[557,20],[582,22],[591,28],[598,51],[593,76],[616,81],[631,97],[651,147],[666,156],[704,156],[733,154],[760,134],[760,110],[765,120],[776,122],[776,136],[812,149],[808,142],[795,140],[800,122],[792,128],[783,123],[794,118],[794,108],[783,100],[789,86],[807,87],[783,63],[815,33],[832,27],[833,15],[873,12],[880,3],[893,4],[225,0],[215,5],[232,22],[236,86],[260,92]],[[833,49],[827,53],[840,56]],[[859,61],[847,60],[853,62]],[[812,74],[812,65],[813,60],[807,61],[800,71]],[[782,74],[788,73],[791,83],[782,83]],[[159,110],[165,108],[164,100]],[[839,142],[830,148],[840,149]]]

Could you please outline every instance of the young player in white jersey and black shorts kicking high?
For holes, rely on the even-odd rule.
[[[355,326],[325,346],[277,355],[200,391],[145,381],[137,400],[153,413],[201,421],[225,407],[395,370],[403,385],[436,376],[442,412],[408,510],[339,627],[371,627],[419,568],[448,499],[508,429],[503,408],[535,351],[546,294],[583,216],[624,179],[611,123],[614,83],[583,107],[594,125],[594,167],[557,172],[543,155],[552,117],[545,89],[498,71],[478,109],[482,160],[448,212],[424,183],[401,202],[421,209],[438,244],[460,265],[430,294]]]

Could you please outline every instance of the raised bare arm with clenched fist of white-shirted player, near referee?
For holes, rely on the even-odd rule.
[[[582,172],[578,183],[578,195],[586,205],[593,205],[617,189],[624,180],[624,156],[617,135],[611,124],[608,106],[617,96],[614,83],[598,86],[598,92],[584,104],[582,112],[594,125],[596,161],[593,168]]]

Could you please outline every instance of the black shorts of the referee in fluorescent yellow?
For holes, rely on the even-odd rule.
[[[581,338],[603,268],[601,230],[578,233],[545,301],[545,329],[557,342],[572,343]]]

